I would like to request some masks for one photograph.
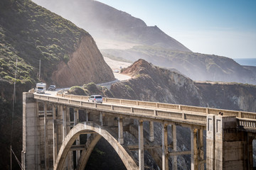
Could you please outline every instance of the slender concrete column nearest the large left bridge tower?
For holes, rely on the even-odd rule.
[[[45,169],[49,169],[49,151],[48,151],[48,128],[47,128],[47,105],[46,102],[43,103],[43,125],[44,125],[44,150],[45,150]]]

